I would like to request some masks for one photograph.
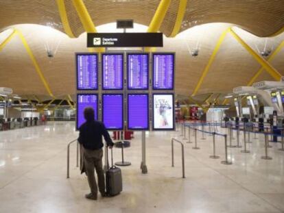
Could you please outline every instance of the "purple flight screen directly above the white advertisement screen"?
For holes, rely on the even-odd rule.
[[[174,53],[153,53],[153,90],[174,90]]]

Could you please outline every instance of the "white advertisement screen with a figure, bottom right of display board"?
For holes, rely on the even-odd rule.
[[[153,129],[174,129],[174,95],[153,95]]]

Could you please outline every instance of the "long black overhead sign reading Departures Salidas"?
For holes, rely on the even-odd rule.
[[[163,47],[162,33],[87,34],[87,47]]]

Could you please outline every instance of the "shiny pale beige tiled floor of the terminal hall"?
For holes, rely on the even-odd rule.
[[[67,143],[77,136],[68,122],[0,132],[0,212],[284,212],[284,152],[278,150],[281,144],[271,143],[268,154],[273,159],[262,160],[263,136],[252,139],[250,153],[228,149],[233,164],[224,165],[222,137],[216,137],[221,158],[211,159],[212,136],[201,140],[198,133],[201,149],[194,150],[180,131],[150,132],[148,174],[143,175],[141,133],[135,133],[125,150],[132,165],[122,168],[123,192],[97,201],[84,198],[88,184],[75,167],[75,145],[71,178],[66,179]],[[171,137],[185,144],[185,179],[178,143],[171,167]],[[115,161],[121,160],[119,149],[114,154]]]

